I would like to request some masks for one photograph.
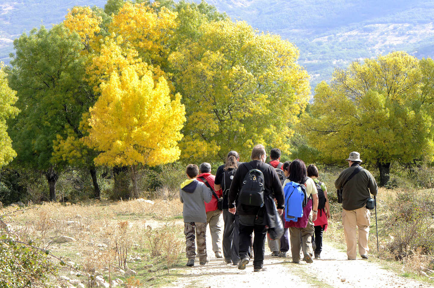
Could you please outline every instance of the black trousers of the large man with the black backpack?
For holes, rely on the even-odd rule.
[[[265,225],[246,226],[240,223],[240,258],[250,258],[250,240],[252,232],[255,232],[253,238],[253,252],[255,259],[253,259],[253,267],[261,267],[264,262],[265,251],[265,237],[267,235],[267,229]]]

